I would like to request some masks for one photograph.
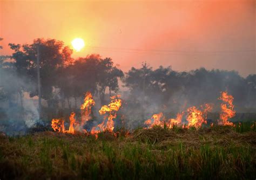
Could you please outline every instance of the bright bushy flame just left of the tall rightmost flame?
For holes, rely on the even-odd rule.
[[[204,108],[201,106],[201,108]],[[207,112],[210,112],[212,106],[210,104],[205,104],[205,108],[203,110],[199,110],[195,106],[192,106],[187,109],[187,121],[188,127],[196,127],[197,129],[202,126],[203,123],[207,123]]]

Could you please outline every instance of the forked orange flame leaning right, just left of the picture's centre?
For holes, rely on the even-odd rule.
[[[119,99],[120,95],[112,96],[109,105],[104,105],[99,109],[100,115],[105,115],[102,123],[98,124],[96,127],[93,127],[91,134],[97,134],[100,131],[109,130],[111,133],[114,129],[114,121],[117,117],[117,112],[122,106],[122,100]],[[105,123],[107,119],[107,122]],[[98,128],[98,130],[96,130]],[[97,136],[96,136],[97,137]]]

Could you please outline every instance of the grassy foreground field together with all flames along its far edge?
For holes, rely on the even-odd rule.
[[[141,127],[118,128],[124,101],[111,96],[98,113],[85,94],[79,116],[56,117],[51,130],[0,136],[1,179],[253,179],[256,177],[255,122],[232,123],[233,96],[221,92],[221,112],[208,122],[213,104],[192,106],[169,118],[152,114]],[[93,126],[87,126],[89,122]]]

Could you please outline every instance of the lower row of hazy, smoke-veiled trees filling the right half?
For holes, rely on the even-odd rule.
[[[208,71],[199,68],[190,72],[176,72],[170,67],[160,66],[156,70],[144,64],[132,67],[126,73],[124,84],[130,89],[130,100],[150,106],[160,105],[198,106],[206,102],[218,103],[221,91],[228,91],[235,99],[237,108],[255,106],[255,76],[242,78],[235,71]],[[251,98],[249,98],[250,96]],[[159,105],[159,107],[160,107]]]

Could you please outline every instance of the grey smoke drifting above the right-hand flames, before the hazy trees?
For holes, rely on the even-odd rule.
[[[152,88],[156,84],[154,78],[160,76],[156,74],[157,71],[159,72],[159,70],[153,71],[151,77],[153,80],[147,82],[144,88],[139,87],[139,82],[142,81],[140,77],[131,78],[135,80],[130,81],[130,91],[123,93],[126,103],[120,114],[125,115],[127,127],[131,129],[142,126],[153,114],[163,112],[167,119],[176,118],[177,113],[184,112],[192,106],[200,108],[205,103],[213,105],[208,119],[218,120],[221,111],[221,101],[218,98],[223,91],[234,96],[234,109],[239,114],[233,120],[246,120],[248,117],[252,118],[253,114],[255,118],[253,75],[250,80],[248,77],[242,78],[235,71],[208,71],[205,68],[190,72],[171,70],[170,74],[174,75],[167,74],[163,78],[164,82],[158,83],[159,88]],[[251,115],[247,116],[247,114]],[[186,116],[185,113],[183,121],[186,120]]]

